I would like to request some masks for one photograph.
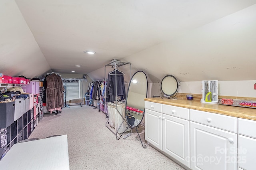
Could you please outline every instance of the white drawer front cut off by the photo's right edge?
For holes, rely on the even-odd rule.
[[[238,118],[237,121],[238,134],[256,138],[256,121],[242,118]]]

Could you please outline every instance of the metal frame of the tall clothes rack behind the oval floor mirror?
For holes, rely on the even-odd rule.
[[[130,64],[130,79],[131,79],[131,77],[132,77],[132,66],[131,66],[131,63],[124,63],[124,62],[120,62],[120,61],[112,61],[111,63],[105,65],[105,80],[106,80],[106,67],[107,67],[107,66],[111,66],[112,68],[115,68],[114,71],[111,71],[112,75],[115,75],[115,92],[116,92],[116,93],[115,93],[114,109],[115,109],[116,113],[118,113],[119,116],[122,118],[122,123],[119,125],[118,129],[116,129],[116,132],[114,132],[114,130],[108,125],[108,122],[109,122],[109,118],[108,118],[108,120],[107,120],[107,122],[106,122],[106,127],[107,127],[113,134],[116,135],[116,139],[117,139],[117,140],[119,139],[119,137],[118,137],[118,132],[119,132],[119,130],[120,130],[122,124],[123,124],[124,122],[126,122],[126,118],[125,118],[125,116],[123,117],[122,114],[120,113],[119,109],[117,109],[117,105],[118,105],[118,96],[117,96],[117,82],[116,82],[116,78],[117,78],[117,77],[116,77],[116,76],[118,75],[118,72],[119,72],[119,73],[123,73],[123,72],[117,70],[117,68],[120,67],[120,66],[126,65],[126,64]],[[105,83],[104,86],[105,86],[105,89],[106,89],[106,83]],[[127,94],[126,94],[126,96],[127,96]],[[105,99],[106,99],[106,92],[105,92]],[[106,105],[106,102],[105,102],[105,104],[104,104],[104,107],[108,107],[108,106]]]

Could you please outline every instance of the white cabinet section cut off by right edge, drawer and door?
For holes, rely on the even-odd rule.
[[[256,121],[238,118],[238,168],[256,167]]]

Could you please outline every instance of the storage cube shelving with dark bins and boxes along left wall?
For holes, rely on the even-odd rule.
[[[26,83],[29,82],[26,80]],[[16,98],[14,102],[0,103],[0,149],[4,148],[5,153],[17,142],[27,139],[38,122],[42,120],[43,115],[40,111],[42,112],[43,109],[40,104],[44,88],[39,87],[39,83],[8,84],[0,82],[0,87],[22,87],[26,91],[25,93],[30,94],[26,99]]]

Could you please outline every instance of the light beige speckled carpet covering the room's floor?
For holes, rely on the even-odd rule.
[[[90,106],[74,105],[62,113],[44,114],[29,138],[68,135],[71,170],[183,170],[181,166],[146,144],[144,149],[132,133],[126,139],[105,127],[106,116]],[[144,128],[140,136],[144,141]]]

